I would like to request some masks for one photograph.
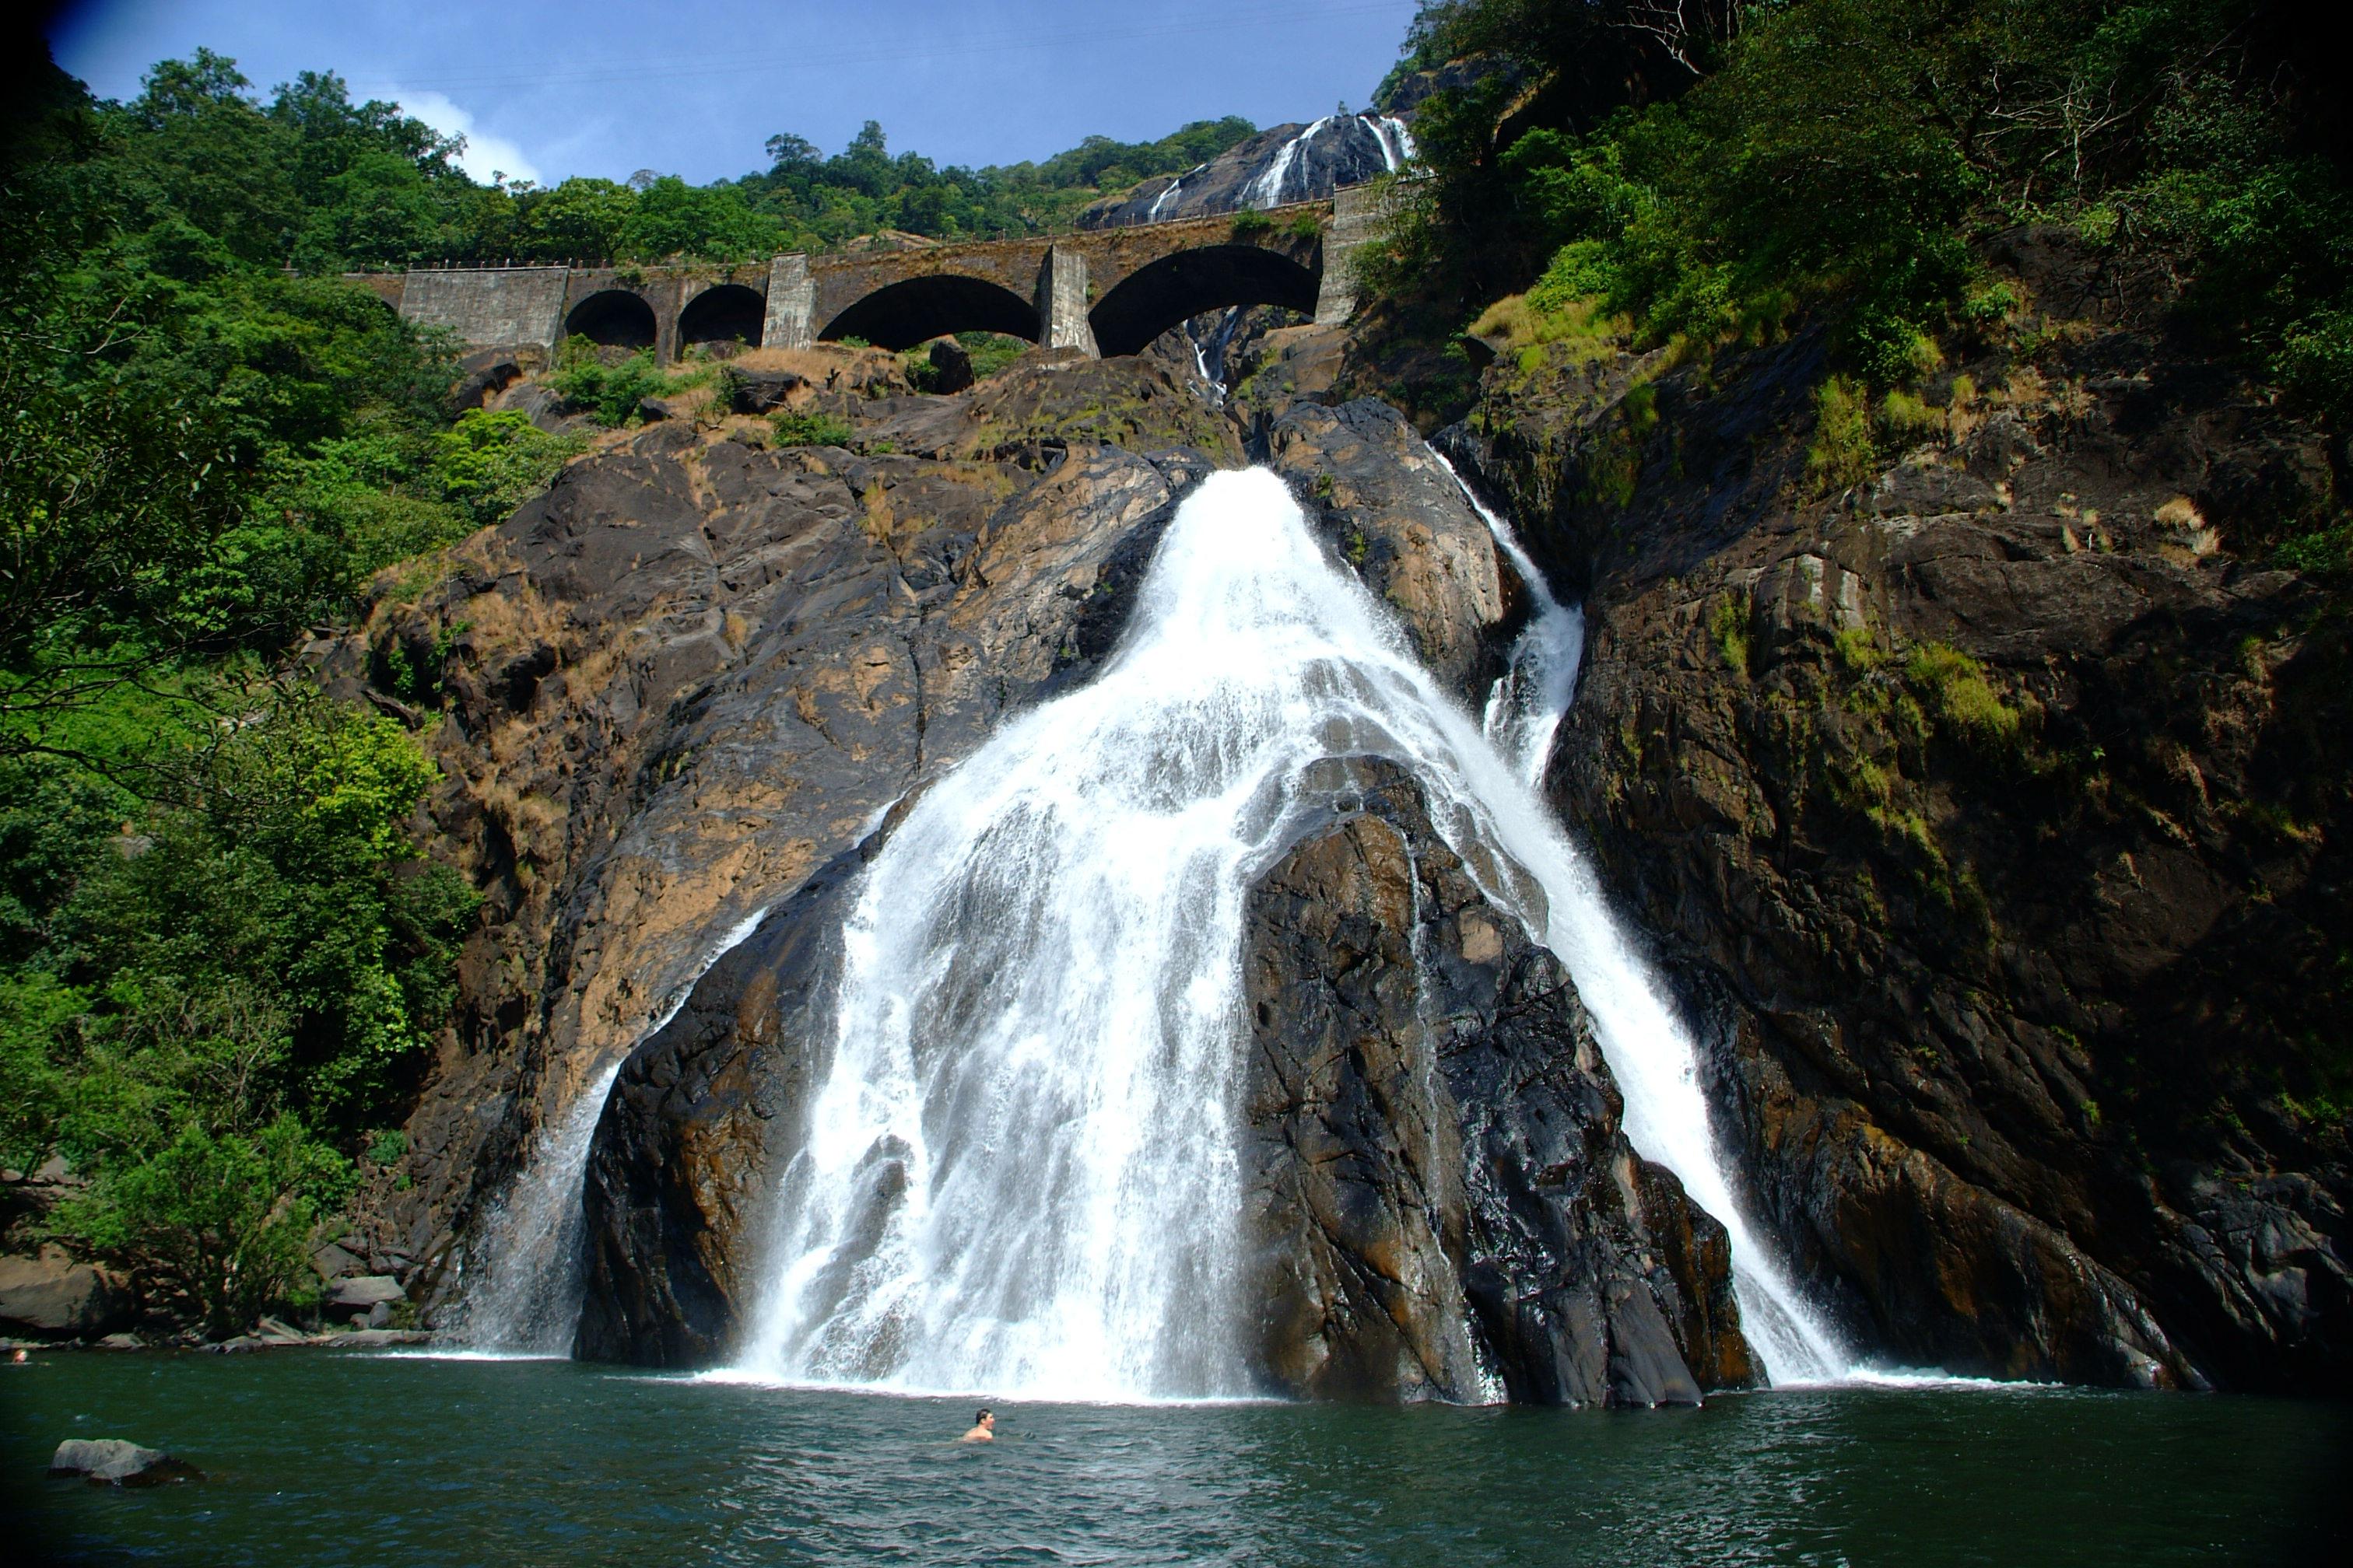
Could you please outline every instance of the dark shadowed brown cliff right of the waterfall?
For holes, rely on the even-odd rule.
[[[1551,771],[1857,1345],[2353,1387],[2341,451],[2049,233],[1826,482],[1821,339],[1499,367],[1461,430],[1588,595]],[[1901,421],[1901,430],[1897,423]]]

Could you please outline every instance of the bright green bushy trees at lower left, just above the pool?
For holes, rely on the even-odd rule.
[[[61,1152],[89,1187],[54,1232],[228,1331],[294,1298],[400,1114],[475,896],[416,858],[433,764],[398,724],[304,684],[205,698],[141,795],[0,764],[0,1154]]]

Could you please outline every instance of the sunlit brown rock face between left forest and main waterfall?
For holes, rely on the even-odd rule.
[[[426,1300],[456,1300],[536,1126],[729,929],[1082,677],[1148,520],[1240,461],[1195,386],[1139,360],[842,407],[856,449],[760,449],[748,418],[609,437],[388,583],[329,658],[353,691],[440,710],[440,853],[487,893],[409,1121],[414,1182],[369,1215]]]

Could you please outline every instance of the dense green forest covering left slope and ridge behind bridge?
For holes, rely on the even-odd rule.
[[[449,1009],[475,900],[409,839],[433,769],[296,651],[579,442],[452,418],[452,346],[334,273],[1026,230],[1249,132],[972,172],[868,125],[739,181],[536,190],[332,75],[259,99],[200,52],[108,103],[28,73],[0,103],[0,1164],[89,1178],[54,1234],[214,1331],[299,1300]]]

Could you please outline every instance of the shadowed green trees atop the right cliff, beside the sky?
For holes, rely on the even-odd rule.
[[[2186,275],[2181,320],[2353,409],[2346,127],[2271,0],[1424,5],[1433,181],[1372,277],[1468,320],[1537,284],[1713,343],[1824,313],[1878,388],[1998,322],[1972,242],[2064,221]]]

